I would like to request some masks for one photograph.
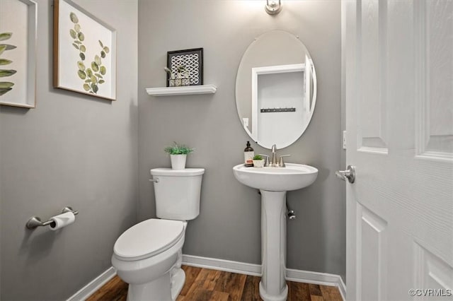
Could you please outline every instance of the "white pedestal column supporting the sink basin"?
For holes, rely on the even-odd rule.
[[[261,192],[261,258],[263,276],[260,296],[265,301],[285,301],[286,191]]]

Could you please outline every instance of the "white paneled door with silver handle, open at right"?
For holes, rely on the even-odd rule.
[[[452,300],[453,1],[342,5],[347,299]]]

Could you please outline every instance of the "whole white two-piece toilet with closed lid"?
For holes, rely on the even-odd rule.
[[[127,229],[113,247],[112,265],[129,283],[127,300],[174,301],[185,282],[185,228],[200,214],[203,168],[151,170],[156,216]]]

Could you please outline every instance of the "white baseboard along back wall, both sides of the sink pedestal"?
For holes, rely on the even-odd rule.
[[[201,256],[184,255],[183,264],[186,266],[197,266],[200,268],[211,268],[213,270],[227,271],[231,273],[261,276],[260,264],[246,264],[239,261],[215,259]],[[311,271],[294,270],[287,268],[286,279],[288,281],[313,283],[319,285],[336,286],[340,290],[341,297],[345,300],[346,285],[340,276],[329,273],[318,273]]]

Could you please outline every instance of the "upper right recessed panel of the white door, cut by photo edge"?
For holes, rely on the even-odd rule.
[[[453,1],[418,1],[415,47],[418,78],[417,155],[453,159]],[[449,45],[449,46],[448,46]]]

